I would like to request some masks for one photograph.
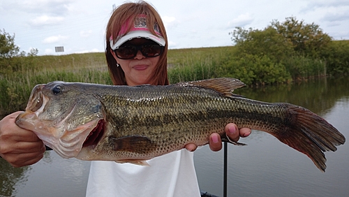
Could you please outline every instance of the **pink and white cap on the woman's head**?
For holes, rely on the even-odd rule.
[[[133,27],[128,31],[128,34],[124,35],[128,28],[128,22],[126,22],[122,27],[121,31],[119,32],[117,36],[117,42],[114,43],[112,36],[110,37],[110,47],[112,50],[116,50],[119,48],[120,45],[126,43],[126,41],[130,41],[133,38],[148,38],[151,41],[154,41],[158,43],[161,46],[165,46],[165,39],[163,38],[163,35],[160,32],[160,28],[158,27],[158,24],[154,24],[154,31],[157,34],[157,36],[154,36],[151,34],[147,27],[147,18],[146,15],[139,15],[135,18],[135,22],[133,22]],[[119,38],[119,36],[122,36]]]

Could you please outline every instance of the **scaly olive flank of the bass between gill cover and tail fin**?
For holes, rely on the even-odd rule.
[[[181,149],[188,143],[205,145],[209,142],[211,133],[223,135],[222,128],[228,122],[235,122],[240,127],[252,126],[266,130],[273,126],[281,126],[283,122],[280,117],[281,113],[284,116],[285,111],[274,110],[275,104],[264,103],[265,110],[262,110],[260,105],[257,105],[258,102],[224,97],[211,89],[187,90],[176,86],[160,88],[135,87],[100,95],[106,117],[115,128],[110,130],[112,133],[107,136],[115,139],[125,136],[147,136],[151,141],[152,146],[144,144],[144,147],[133,149],[132,156],[139,153],[137,156],[154,157]],[[273,116],[270,112],[279,114]],[[248,119],[249,117],[253,117],[253,121]],[[268,128],[263,128],[262,125],[267,125]],[[109,140],[105,143],[108,147],[113,147],[113,143],[116,142]],[[117,140],[117,143],[120,141]],[[105,152],[104,144],[99,147],[101,149],[97,147],[96,150]],[[113,153],[114,150],[110,149],[110,154]],[[129,152],[120,154],[125,154],[121,157],[127,157]]]

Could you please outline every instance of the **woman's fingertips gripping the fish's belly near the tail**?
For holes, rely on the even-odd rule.
[[[245,138],[251,134],[251,129],[248,128],[242,128],[238,129],[236,124],[229,123],[227,126],[225,126],[225,133],[227,134],[228,138],[230,140],[233,140],[235,142],[239,141],[239,138]],[[194,151],[197,148],[195,144],[188,144],[186,145],[186,149],[188,151]],[[222,149],[222,140],[221,136],[219,136],[218,133],[212,133],[211,136],[209,136],[209,148],[212,151],[218,151]]]

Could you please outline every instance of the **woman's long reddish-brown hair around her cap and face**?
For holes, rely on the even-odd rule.
[[[150,76],[150,84],[152,85],[168,85],[168,36],[166,34],[165,26],[161,20],[160,15],[149,3],[145,1],[138,1],[137,3],[124,3],[114,10],[112,16],[110,17],[109,22],[107,23],[107,30],[105,34],[106,48],[105,48],[105,57],[107,59],[107,65],[109,69],[110,76],[112,78],[112,83],[114,85],[127,85],[125,80],[125,73],[121,69],[121,66],[117,66],[117,60],[112,56],[110,48],[110,37],[117,38],[121,27],[127,20],[134,21],[135,17],[138,15],[147,15],[147,27],[154,27],[154,24],[157,22],[160,32],[163,35],[163,38],[166,41],[165,49],[160,55],[158,65],[154,73]],[[125,34],[131,29],[132,22],[129,23],[130,27]],[[149,28],[151,34],[157,36],[154,29]],[[123,36],[123,35],[122,35]],[[115,42],[115,40],[114,40]]]

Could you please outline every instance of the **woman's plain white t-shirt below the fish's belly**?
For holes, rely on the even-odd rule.
[[[193,152],[181,149],[147,162],[91,161],[86,196],[200,196]]]

